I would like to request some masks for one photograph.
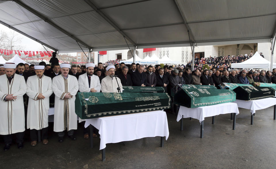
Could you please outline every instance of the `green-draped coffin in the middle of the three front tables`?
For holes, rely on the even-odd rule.
[[[175,93],[177,105],[189,108],[215,105],[236,100],[236,93],[227,89],[182,89]]]

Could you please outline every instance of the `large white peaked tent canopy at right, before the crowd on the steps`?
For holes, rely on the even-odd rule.
[[[247,59],[241,63],[233,63],[231,64],[231,68],[265,68],[268,69],[270,67],[270,62],[267,59],[261,57],[261,55],[256,52],[251,58]]]

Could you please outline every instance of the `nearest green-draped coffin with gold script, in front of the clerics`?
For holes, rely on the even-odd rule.
[[[169,109],[168,93],[77,93],[75,112],[81,119]]]

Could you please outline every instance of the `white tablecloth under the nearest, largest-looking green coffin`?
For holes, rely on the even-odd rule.
[[[161,110],[87,119],[85,127],[89,124],[99,130],[100,150],[107,143],[169,136],[167,115]]]

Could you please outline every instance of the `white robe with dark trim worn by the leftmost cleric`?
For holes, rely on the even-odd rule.
[[[7,75],[0,76],[0,135],[9,135],[25,131],[25,113],[23,95],[26,93],[24,76],[14,74],[9,84]],[[17,96],[16,100],[4,101],[7,94]]]

